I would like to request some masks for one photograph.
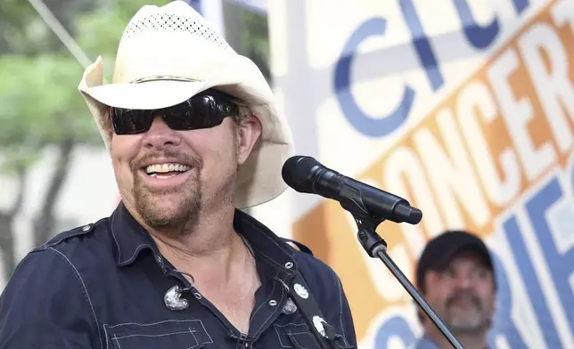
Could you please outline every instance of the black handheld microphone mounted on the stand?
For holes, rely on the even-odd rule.
[[[340,175],[315,158],[288,158],[281,174],[283,181],[295,191],[335,199],[343,208],[362,218],[410,224],[417,224],[422,219],[421,210],[411,207],[406,199]]]

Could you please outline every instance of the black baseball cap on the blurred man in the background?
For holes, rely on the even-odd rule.
[[[453,257],[462,251],[476,251],[494,272],[492,256],[482,239],[467,231],[445,231],[430,239],[416,265],[416,285],[424,291],[424,274],[429,271],[444,271]]]

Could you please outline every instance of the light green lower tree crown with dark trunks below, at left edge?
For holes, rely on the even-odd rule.
[[[8,212],[0,213],[0,248],[4,272],[15,264],[12,250],[12,223],[26,192],[26,176],[46,147],[58,150],[55,170],[41,199],[35,225],[35,243],[41,244],[53,232],[53,207],[65,183],[70,157],[80,143],[95,144],[98,134],[86,115],[86,105],[74,93],[82,69],[62,53],[37,57],[4,54],[0,57],[0,143],[3,144],[4,172],[18,180],[18,196]],[[77,90],[76,90],[77,91]]]

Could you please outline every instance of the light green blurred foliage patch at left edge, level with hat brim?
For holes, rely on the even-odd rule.
[[[98,142],[77,85],[82,69],[62,53],[0,56],[0,144],[3,169],[32,165],[39,150],[63,139]]]

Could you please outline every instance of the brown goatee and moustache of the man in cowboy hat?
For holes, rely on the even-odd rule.
[[[189,178],[185,183],[165,190],[151,190],[147,188],[138,171],[142,165],[154,158],[168,158],[169,162],[187,164]],[[175,150],[166,150],[162,153],[148,153],[137,158],[132,164],[134,175],[133,195],[135,209],[142,216],[143,221],[156,231],[163,231],[170,235],[181,235],[186,231],[193,231],[201,211],[201,168],[203,162],[188,154]]]

